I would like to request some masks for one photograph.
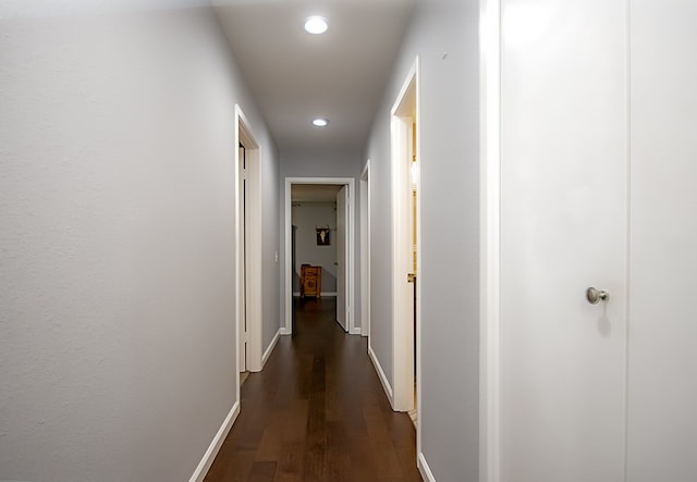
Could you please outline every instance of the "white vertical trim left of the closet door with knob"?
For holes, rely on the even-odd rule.
[[[501,0],[480,1],[479,481],[501,480]]]

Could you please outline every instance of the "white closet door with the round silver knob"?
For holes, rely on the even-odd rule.
[[[503,482],[624,477],[625,39],[623,0],[502,1]]]

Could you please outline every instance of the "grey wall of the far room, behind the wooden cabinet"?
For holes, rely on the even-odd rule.
[[[301,264],[322,267],[322,293],[337,292],[337,202],[293,202],[295,267],[293,292],[299,292]],[[317,245],[317,227],[329,226],[329,245]]]

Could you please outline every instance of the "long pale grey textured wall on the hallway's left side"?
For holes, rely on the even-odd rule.
[[[0,479],[187,480],[236,401],[235,102],[269,217],[274,147],[208,10],[0,29]]]

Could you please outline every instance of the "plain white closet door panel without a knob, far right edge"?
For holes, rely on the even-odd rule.
[[[628,481],[697,480],[697,2],[632,2]]]

